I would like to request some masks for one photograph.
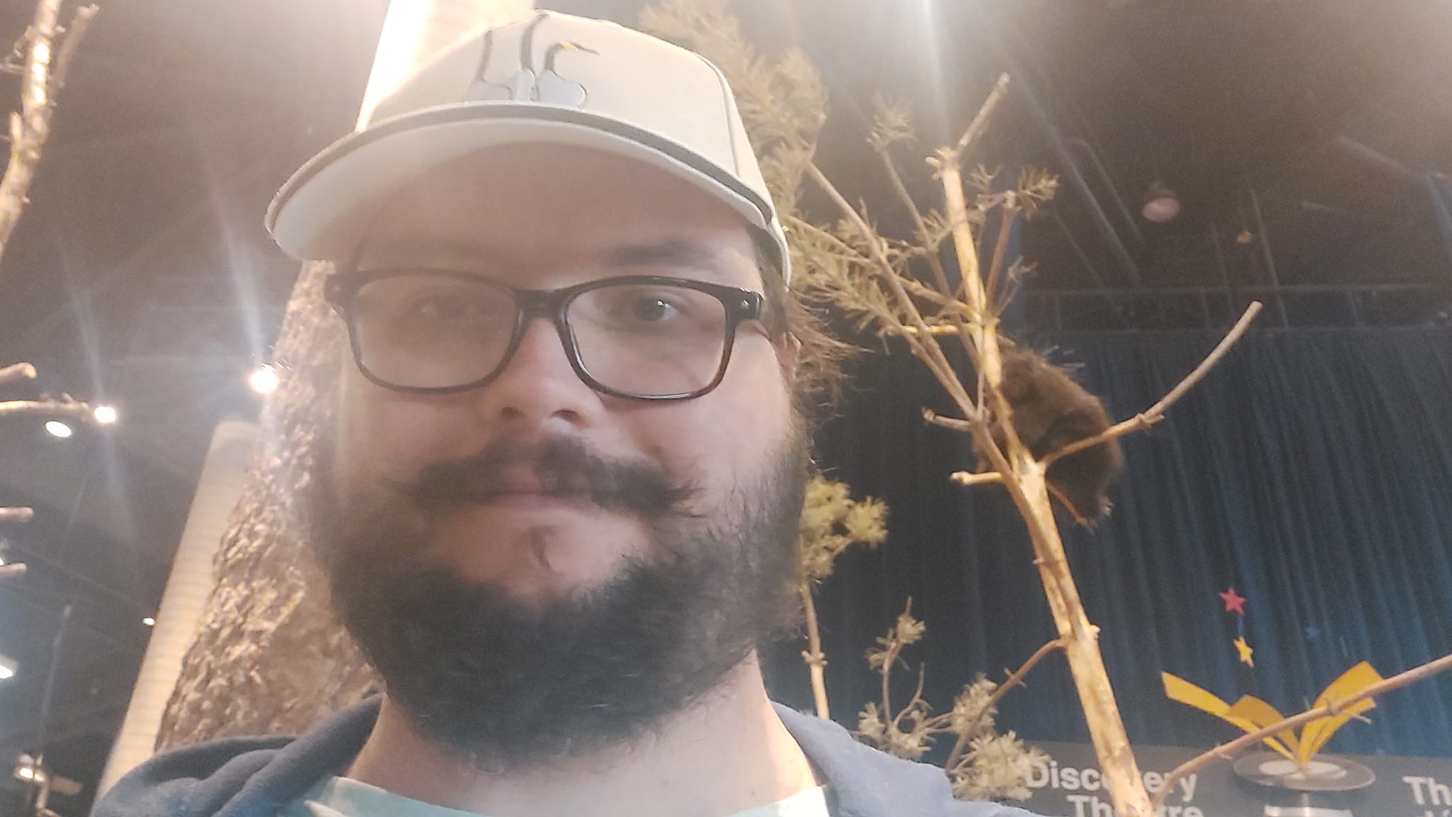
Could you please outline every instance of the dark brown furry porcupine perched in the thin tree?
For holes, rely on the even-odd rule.
[[[1044,456],[1109,427],[1109,414],[1098,397],[1074,382],[1069,372],[1024,347],[1003,349],[1003,397],[1013,407],[1013,430],[1034,454]],[[1003,446],[1003,435],[993,432]],[[980,468],[986,465],[980,455]],[[1072,454],[1048,467],[1048,490],[1074,520],[1092,525],[1109,513],[1105,491],[1124,465],[1119,440]]]

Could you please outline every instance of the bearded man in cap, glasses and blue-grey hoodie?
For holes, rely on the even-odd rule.
[[[385,693],[157,757],[97,814],[1024,814],[767,698],[816,343],[720,74],[540,15],[378,118],[269,227],[337,265],[353,361],[302,504]]]

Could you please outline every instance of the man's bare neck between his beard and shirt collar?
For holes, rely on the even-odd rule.
[[[385,696],[347,775],[489,817],[723,817],[817,785],[767,698],[755,656],[635,744],[501,773],[462,765]]]

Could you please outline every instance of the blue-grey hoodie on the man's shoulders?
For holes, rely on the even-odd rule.
[[[240,737],[177,749],[142,763],[93,817],[276,817],[327,775],[343,773],[378,720],[380,698],[338,712],[298,738]],[[832,721],[777,705],[825,778],[835,817],[1032,817],[953,798],[942,770],[862,746]]]

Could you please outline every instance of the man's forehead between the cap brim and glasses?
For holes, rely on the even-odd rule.
[[[743,283],[755,278],[751,230],[640,161],[515,145],[417,177],[383,206],[359,262],[675,267]]]

